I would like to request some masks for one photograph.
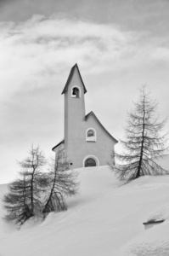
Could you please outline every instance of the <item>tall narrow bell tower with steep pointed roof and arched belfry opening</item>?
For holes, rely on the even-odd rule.
[[[75,150],[85,140],[84,119],[85,100],[87,92],[77,64],[70,70],[70,75],[62,94],[65,94],[65,157],[73,167]]]

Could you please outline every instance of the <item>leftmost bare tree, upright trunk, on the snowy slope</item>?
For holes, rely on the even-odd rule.
[[[41,169],[45,158],[40,148],[31,147],[29,156],[19,162],[20,178],[9,185],[9,193],[4,196],[5,219],[23,224],[28,218],[42,212],[41,197],[46,179]]]

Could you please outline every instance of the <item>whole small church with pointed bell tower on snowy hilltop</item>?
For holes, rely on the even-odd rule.
[[[61,152],[70,168],[106,166],[117,140],[91,111],[85,113],[85,93],[77,64],[71,68],[62,94],[65,96],[65,137],[53,149]]]

